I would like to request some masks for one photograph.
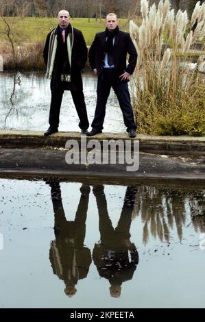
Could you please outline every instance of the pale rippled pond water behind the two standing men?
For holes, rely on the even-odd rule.
[[[18,77],[21,75],[21,84]],[[51,93],[44,73],[0,73],[0,129],[44,131],[48,127]],[[97,77],[83,74],[88,120],[95,113]],[[60,110],[60,131],[79,131],[78,117],[69,91],[64,92]],[[105,132],[125,132],[123,116],[113,90],[108,99]]]

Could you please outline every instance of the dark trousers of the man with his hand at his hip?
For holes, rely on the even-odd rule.
[[[104,69],[102,75],[98,77],[97,81],[97,105],[92,127],[99,130],[104,128],[103,124],[106,115],[106,103],[108,101],[108,96],[110,95],[111,87],[117,95],[127,131],[129,131],[129,129],[136,129],[136,123],[134,121],[134,114],[130,102],[128,83],[120,82],[119,79],[116,79],[114,71],[106,69]]]

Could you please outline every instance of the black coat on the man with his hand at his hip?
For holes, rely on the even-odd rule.
[[[92,69],[97,69],[97,74],[100,75],[104,67],[104,58],[106,54],[106,32],[99,32],[95,35],[95,39],[88,53],[89,62]],[[129,53],[129,64],[126,66],[127,54]],[[117,34],[114,40],[113,49],[114,70],[117,75],[121,75],[127,71],[132,75],[136,66],[137,53],[130,37],[127,32]]]

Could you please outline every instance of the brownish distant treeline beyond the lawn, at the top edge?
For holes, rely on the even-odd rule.
[[[140,0],[0,0],[1,16],[56,16],[62,8],[73,17],[104,18],[108,12],[121,17],[140,16]],[[159,0],[149,0],[149,4]],[[202,2],[202,1],[201,1]],[[197,0],[171,0],[171,6],[188,10],[189,16]]]

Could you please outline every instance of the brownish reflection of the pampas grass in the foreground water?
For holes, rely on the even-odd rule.
[[[169,242],[174,225],[179,240],[182,240],[187,226],[186,212],[195,231],[205,232],[203,198],[203,191],[193,193],[189,188],[182,191],[176,187],[138,186],[132,220],[140,218],[143,223],[143,243],[146,245],[151,236]]]

